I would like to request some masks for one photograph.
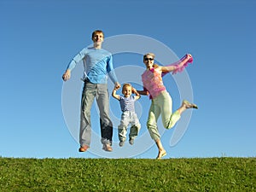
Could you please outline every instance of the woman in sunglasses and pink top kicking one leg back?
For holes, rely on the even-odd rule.
[[[166,91],[163,84],[162,76],[165,73],[182,72],[183,68],[193,61],[192,55],[185,55],[180,61],[171,65],[160,67],[154,63],[154,54],[148,53],[143,55],[143,62],[147,70],[142,75],[144,90],[138,90],[141,95],[148,95],[152,103],[148,113],[148,131],[154,142],[156,143],[159,153],[156,159],[161,159],[166,155],[166,150],[160,142],[160,133],[157,128],[157,119],[162,117],[162,123],[166,129],[171,129],[180,119],[181,114],[188,108],[197,108],[195,104],[184,100],[181,107],[172,113],[172,97]]]

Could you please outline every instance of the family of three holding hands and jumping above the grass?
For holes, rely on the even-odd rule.
[[[166,155],[160,141],[160,133],[157,127],[157,119],[161,114],[161,119],[166,129],[171,129],[181,118],[181,114],[188,108],[197,108],[193,103],[183,100],[182,105],[172,113],[172,97],[163,84],[162,76],[166,73],[182,72],[188,63],[193,61],[192,55],[185,55],[180,61],[167,65],[158,66],[154,63],[155,55],[147,53],[143,55],[143,62],[146,67],[142,74],[143,90],[136,90],[131,84],[123,84],[122,96],[116,93],[121,88],[121,84],[113,70],[113,56],[106,49],[102,49],[104,33],[101,30],[92,32],[91,39],[93,47],[82,49],[78,55],[75,55],[69,62],[67,70],[62,75],[62,79],[67,81],[71,77],[71,71],[80,62],[84,62],[84,88],[81,97],[80,112],[80,131],[79,131],[79,152],[85,152],[90,148],[91,124],[90,109],[96,99],[100,112],[100,125],[102,137],[102,149],[108,152],[113,151],[112,137],[113,124],[109,117],[109,95],[108,95],[108,76],[114,84],[112,96],[117,99],[122,111],[119,132],[119,146],[122,147],[126,141],[128,125],[131,124],[129,133],[129,143],[132,145],[141,128],[134,103],[141,96],[149,96],[151,106],[148,112],[147,127],[150,137],[156,143],[158,155],[156,159],[161,159]],[[134,95],[132,95],[134,94]]]

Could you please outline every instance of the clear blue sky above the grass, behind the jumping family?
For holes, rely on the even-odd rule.
[[[119,148],[114,129],[113,153],[102,151],[98,139],[92,141],[89,152],[78,152],[77,136],[72,133],[79,127],[70,125],[78,123],[76,113],[79,111],[68,110],[62,98],[72,89],[67,88],[68,84],[78,84],[71,87],[75,88],[74,95],[79,96],[82,84],[78,80],[79,73],[73,73],[73,83],[71,80],[67,84],[63,83],[61,75],[73,56],[91,44],[90,35],[95,29],[105,32],[106,44],[108,39],[131,34],[166,45],[177,57],[186,53],[194,56],[193,64],[184,73],[187,76],[184,79],[181,76],[183,81],[178,80],[177,84],[171,75],[164,79],[172,96],[173,110],[183,99],[180,96],[183,85],[179,84],[188,78],[193,102],[199,107],[184,113],[183,119],[187,119],[186,115],[191,115],[191,119],[186,121],[184,135],[175,145],[170,141],[177,127],[163,131],[166,158],[255,156],[255,8],[253,0],[129,3],[1,0],[0,156],[156,157],[157,148],[146,127],[150,104],[146,96],[137,102],[142,130],[134,146],[125,143],[124,148]],[[124,44],[117,42],[117,38],[114,40],[119,47]],[[138,46],[141,44],[134,44],[134,49]],[[146,44],[144,49],[155,50]],[[170,54],[170,61],[166,61],[168,56],[156,55],[156,59],[165,61],[160,63],[165,65],[173,60]],[[138,53],[115,54],[113,65],[119,69],[121,80],[125,67],[135,67],[135,70],[144,67],[142,55]],[[132,76],[131,83],[140,88],[141,83]],[[79,108],[77,98],[69,104]],[[113,98],[110,98],[110,106],[118,119],[119,106]],[[70,112],[66,114],[68,117],[65,111]],[[91,114],[93,130],[98,135],[100,128],[95,107]]]

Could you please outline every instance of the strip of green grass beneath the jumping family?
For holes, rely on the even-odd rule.
[[[256,158],[0,157],[0,191],[256,191]]]

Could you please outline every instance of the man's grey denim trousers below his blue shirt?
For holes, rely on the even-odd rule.
[[[109,117],[108,84],[92,84],[85,80],[80,113],[79,143],[81,146],[87,145],[90,147],[90,109],[95,99],[100,112],[102,144],[112,144],[113,124]]]

